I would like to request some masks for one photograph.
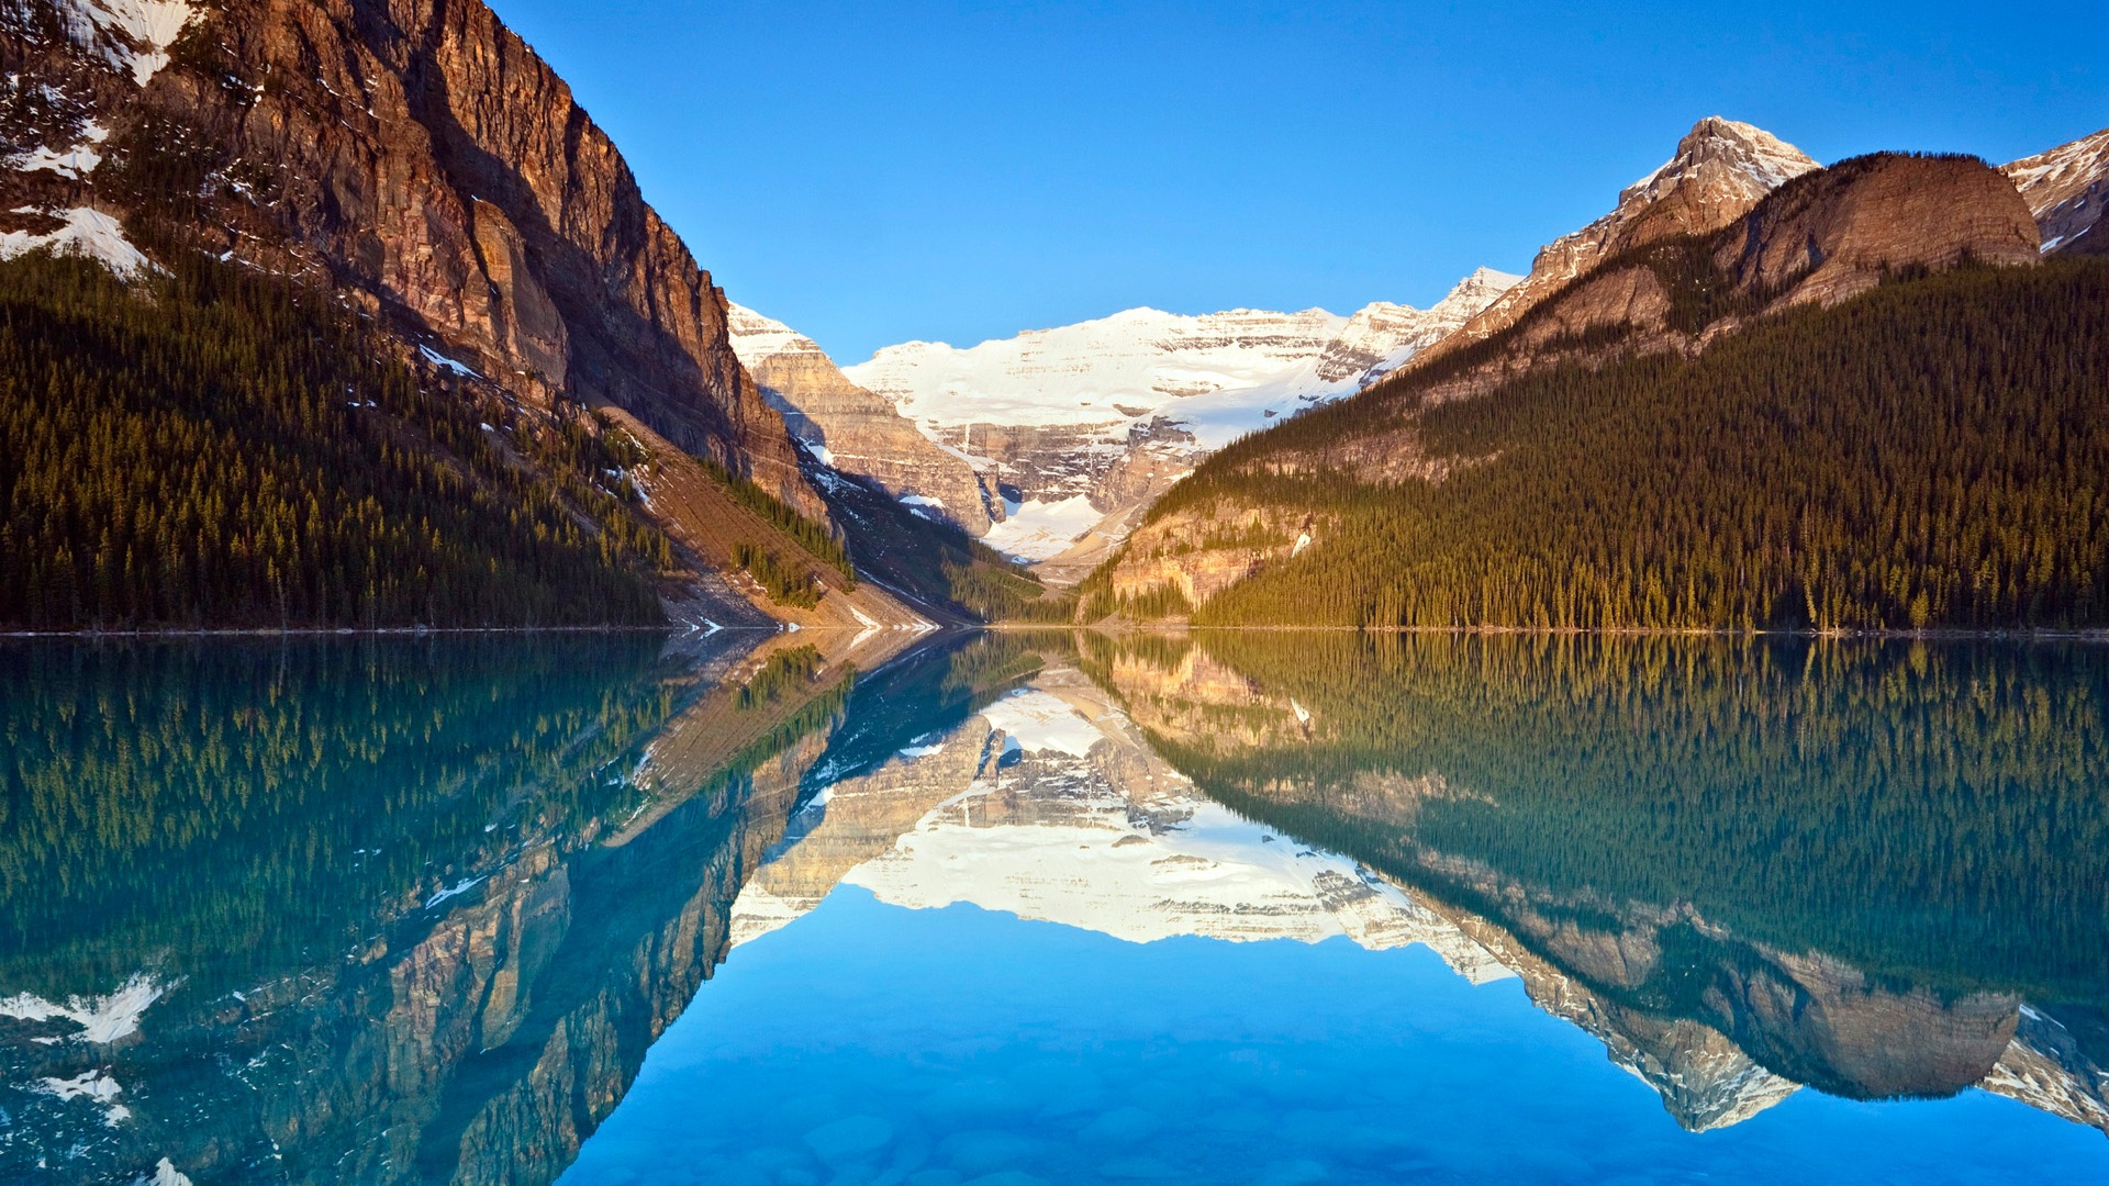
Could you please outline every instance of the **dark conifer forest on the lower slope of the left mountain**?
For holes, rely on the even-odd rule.
[[[635,443],[424,390],[323,295],[160,255],[0,264],[0,625],[660,620],[669,544],[610,479]]]

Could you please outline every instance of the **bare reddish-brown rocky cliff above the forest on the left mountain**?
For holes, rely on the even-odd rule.
[[[8,0],[6,17],[15,249],[118,213],[135,238],[335,285],[525,399],[626,407],[825,513],[734,357],[723,293],[481,0]]]

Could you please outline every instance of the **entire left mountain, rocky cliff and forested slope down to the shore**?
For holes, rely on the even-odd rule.
[[[21,350],[55,367],[0,380],[27,409],[8,456],[36,464],[0,481],[0,517],[23,523],[0,566],[36,580],[0,620],[917,627],[972,616],[953,574],[1002,580],[911,519],[865,540],[856,563],[882,580],[858,582],[852,523],[742,367],[723,293],[479,0],[0,15],[0,287],[53,327]],[[38,264],[51,251],[101,260],[131,295],[70,293]],[[264,329],[310,300],[327,346]],[[169,321],[160,342],[224,333],[120,374],[112,327],[141,317]],[[266,416],[209,397],[257,382],[259,352],[285,380]],[[63,418],[99,407],[120,409],[112,449],[160,452],[63,462]],[[219,454],[253,464],[198,460]],[[886,574],[930,547],[955,563],[917,593],[879,587],[915,585]],[[156,593],[171,585],[192,593]]]

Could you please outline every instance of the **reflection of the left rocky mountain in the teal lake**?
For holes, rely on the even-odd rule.
[[[553,1180],[721,958],[848,644],[0,648],[0,1180]]]

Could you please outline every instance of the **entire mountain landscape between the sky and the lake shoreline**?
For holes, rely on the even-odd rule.
[[[2109,131],[1704,118],[1428,308],[841,367],[479,0],[0,0],[0,629],[2109,625]]]

